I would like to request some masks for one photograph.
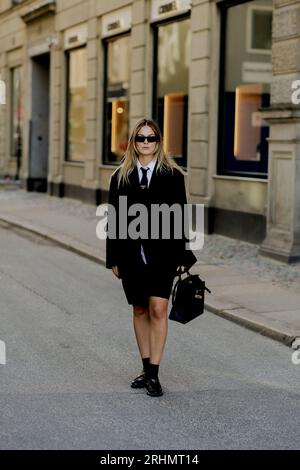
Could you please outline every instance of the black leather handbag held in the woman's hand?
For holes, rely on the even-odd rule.
[[[179,323],[188,323],[204,312],[204,293],[211,293],[198,274],[190,274],[182,279],[181,274],[176,281],[172,292],[172,307],[170,320]]]

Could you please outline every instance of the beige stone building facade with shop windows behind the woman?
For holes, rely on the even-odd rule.
[[[298,260],[299,50],[299,0],[2,0],[0,177],[99,204],[152,117],[207,233]]]

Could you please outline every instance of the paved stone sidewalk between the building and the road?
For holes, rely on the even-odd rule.
[[[1,227],[33,232],[104,264],[105,241],[96,237],[99,220],[96,206],[0,187]],[[212,291],[206,295],[207,310],[288,346],[300,338],[300,291],[241,273],[230,265],[220,266],[202,252],[197,257],[191,272],[199,273]]]

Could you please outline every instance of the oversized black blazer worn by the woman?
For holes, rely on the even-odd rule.
[[[186,204],[186,191],[184,184],[184,175],[177,168],[174,168],[173,174],[170,169],[163,167],[162,172],[156,173],[157,162],[153,169],[150,185],[147,189],[141,189],[139,183],[138,168],[129,175],[130,185],[122,184],[118,188],[117,170],[111,177],[108,203],[115,207],[117,220],[119,216],[119,196],[127,196],[127,207],[134,203],[144,203],[148,208],[148,239],[132,240],[106,238],[106,267],[118,266],[121,278],[130,276],[136,269],[137,263],[141,259],[141,241],[146,256],[147,263],[152,272],[176,273],[177,266],[186,266],[190,268],[197,258],[191,250],[185,249],[187,239],[174,238],[174,230],[170,230],[170,239],[151,239],[151,204],[166,203],[172,205],[179,203],[183,208]],[[108,211],[108,226],[110,224],[110,211]],[[128,216],[128,225],[136,216]],[[172,224],[171,224],[172,225]],[[183,220],[182,220],[182,228]],[[117,223],[118,234],[118,223]]]

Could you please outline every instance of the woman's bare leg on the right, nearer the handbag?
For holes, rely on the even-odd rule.
[[[149,299],[151,364],[159,364],[163,355],[168,333],[168,302],[162,297]]]

